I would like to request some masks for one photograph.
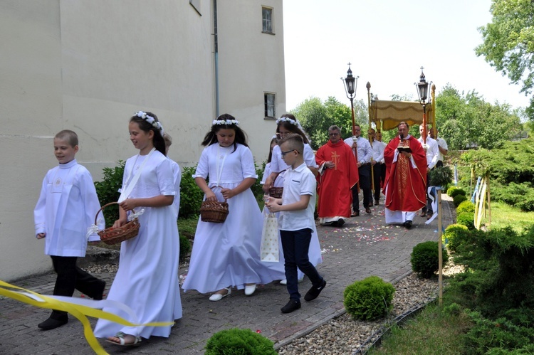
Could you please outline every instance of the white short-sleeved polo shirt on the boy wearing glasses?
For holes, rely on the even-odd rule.
[[[299,211],[281,211],[278,228],[283,231],[299,231],[315,226],[313,212],[315,211],[315,191],[317,181],[305,163],[296,169],[288,167],[283,181],[282,203],[288,205],[300,201],[300,196],[310,195],[308,207]]]

